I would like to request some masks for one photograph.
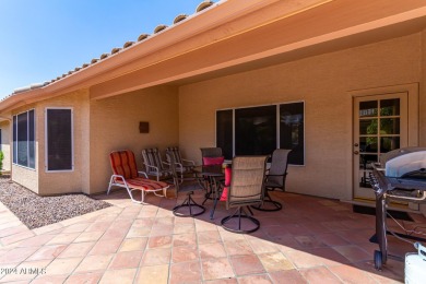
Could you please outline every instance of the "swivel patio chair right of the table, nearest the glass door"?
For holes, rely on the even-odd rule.
[[[287,177],[288,154],[292,150],[276,149],[272,153],[271,167],[267,170],[267,181],[264,184],[265,192],[262,206],[253,206],[260,211],[279,211],[283,205],[275,200],[272,200],[270,191],[280,189],[285,191],[285,179]]]

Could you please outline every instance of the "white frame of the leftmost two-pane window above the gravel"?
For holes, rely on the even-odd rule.
[[[29,167],[29,123],[28,123],[29,122],[29,111],[34,113],[34,167]],[[26,133],[27,133],[26,155],[27,155],[27,158],[28,158],[28,163],[27,163],[28,165],[27,166],[24,166],[24,165],[21,165],[21,164],[17,163],[17,116],[20,116],[22,114],[26,114],[26,117],[27,117],[27,123],[26,123]],[[16,118],[16,130],[15,130],[15,126],[14,126],[14,119],[15,118]],[[31,169],[31,170],[36,170],[36,168],[37,168],[37,152],[36,152],[37,121],[36,120],[37,119],[36,119],[36,110],[35,110],[35,108],[29,108],[29,109],[27,109],[25,111],[21,111],[21,113],[17,113],[15,115],[12,115],[12,151],[13,151],[12,152],[12,166],[22,167],[22,168],[26,168],[26,169]],[[16,141],[14,140],[15,139],[15,135],[14,135],[15,133],[16,133]]]

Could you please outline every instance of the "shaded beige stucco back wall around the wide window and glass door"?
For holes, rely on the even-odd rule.
[[[289,167],[287,190],[350,200],[350,91],[421,82],[421,42],[414,34],[182,86],[179,144],[200,161],[199,149],[215,145],[217,109],[305,100],[306,165]]]

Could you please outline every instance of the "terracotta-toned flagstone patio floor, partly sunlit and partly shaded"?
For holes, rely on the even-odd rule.
[[[175,198],[95,198],[114,206],[33,230],[0,203],[0,283],[403,283],[403,262],[375,270],[375,217],[348,203],[274,192],[283,210],[255,211],[260,229],[241,235],[220,226],[224,204],[211,221],[211,201],[200,216],[176,217]],[[424,229],[412,216],[403,225]],[[389,242],[391,253],[414,251]]]

